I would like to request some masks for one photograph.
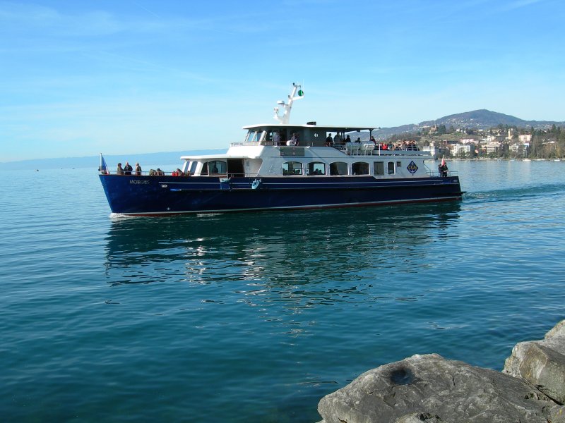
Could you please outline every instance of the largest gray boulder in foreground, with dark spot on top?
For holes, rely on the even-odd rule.
[[[559,406],[520,379],[431,354],[369,370],[318,411],[326,423],[547,423]]]

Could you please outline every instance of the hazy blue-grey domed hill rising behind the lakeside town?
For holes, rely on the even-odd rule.
[[[531,126],[535,129],[547,129],[552,125],[565,126],[565,122],[524,121],[521,118],[516,118],[516,116],[510,116],[498,113],[496,111],[481,109],[444,116],[443,118],[439,118],[434,121],[420,122],[418,125],[411,124],[395,126],[393,128],[381,128],[380,130],[376,131],[376,135],[379,138],[386,138],[391,135],[397,135],[401,133],[414,133],[420,130],[420,128],[433,125],[446,125],[446,128],[453,126],[454,128],[472,129],[488,129],[496,127],[498,125],[509,125],[517,126],[519,128]]]

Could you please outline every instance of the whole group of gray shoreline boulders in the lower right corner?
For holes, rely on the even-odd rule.
[[[565,320],[518,343],[502,372],[413,355],[323,397],[320,423],[565,423]]]

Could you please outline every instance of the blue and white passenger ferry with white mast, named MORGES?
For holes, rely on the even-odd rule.
[[[376,128],[291,125],[292,104],[303,97],[300,85],[293,84],[287,102],[275,107],[278,123],[245,126],[244,140],[232,143],[225,154],[181,157],[180,171],[112,173],[100,154],[100,181],[112,213],[157,216],[461,199],[456,174],[431,171],[424,162],[434,157],[415,146],[380,145],[372,138]]]

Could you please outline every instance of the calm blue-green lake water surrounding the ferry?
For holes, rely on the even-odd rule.
[[[501,369],[565,318],[565,162],[449,165],[450,204],[118,220],[96,169],[2,172],[1,419],[316,422],[410,355]]]

